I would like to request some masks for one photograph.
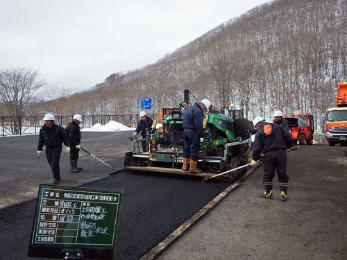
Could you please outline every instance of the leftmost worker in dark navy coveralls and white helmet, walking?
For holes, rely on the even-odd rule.
[[[53,184],[60,182],[60,154],[62,153],[62,143],[67,146],[67,153],[70,152],[70,141],[64,128],[54,123],[53,114],[44,115],[44,125],[40,129],[39,143],[37,144],[37,155],[42,155],[42,148],[46,146],[47,162],[51,166],[53,173]]]

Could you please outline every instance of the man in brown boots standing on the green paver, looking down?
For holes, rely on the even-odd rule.
[[[208,110],[211,103],[207,99],[203,99],[200,103],[185,109],[183,114],[183,171],[191,173],[201,173],[200,168],[196,168],[198,164],[198,153],[200,150],[200,142],[203,141],[203,112]],[[190,167],[189,165],[190,158]]]

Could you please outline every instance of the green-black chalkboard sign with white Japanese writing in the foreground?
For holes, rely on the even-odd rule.
[[[120,205],[121,192],[41,184],[28,256],[78,248],[85,259],[112,259]]]

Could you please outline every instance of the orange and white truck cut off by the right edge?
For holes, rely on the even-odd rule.
[[[336,107],[327,111],[325,138],[329,146],[347,146],[347,82],[339,83]]]

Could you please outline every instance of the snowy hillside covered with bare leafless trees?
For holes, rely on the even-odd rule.
[[[152,98],[151,113],[177,107],[183,90],[208,98],[217,109],[228,101],[248,119],[296,112],[324,124],[347,80],[347,1],[275,0],[230,19],[165,55],[155,64],[112,73],[91,89],[33,103],[39,114],[135,114],[136,100]],[[101,46],[102,47],[102,46]],[[105,71],[105,75],[109,75]],[[191,101],[196,101],[191,96]]]

